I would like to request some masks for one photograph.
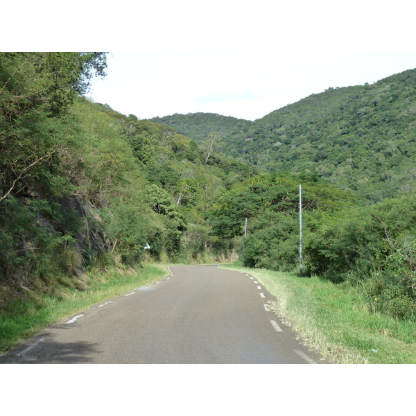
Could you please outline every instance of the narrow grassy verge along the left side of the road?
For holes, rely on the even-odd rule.
[[[137,270],[113,268],[105,272],[94,271],[85,276],[82,290],[69,288],[62,281],[49,295],[33,292],[28,293],[24,300],[8,302],[0,311],[0,354],[49,324],[165,275],[166,268],[156,264],[146,264]]]

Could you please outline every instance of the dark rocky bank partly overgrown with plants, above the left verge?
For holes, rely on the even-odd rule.
[[[81,196],[26,191],[12,198],[0,220],[0,309],[31,291],[49,293],[62,276],[82,290],[87,267],[106,264],[102,254],[113,251],[98,209]]]

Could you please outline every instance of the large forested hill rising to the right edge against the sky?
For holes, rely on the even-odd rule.
[[[374,202],[415,190],[416,69],[329,88],[225,139],[227,155],[265,171],[310,171]]]

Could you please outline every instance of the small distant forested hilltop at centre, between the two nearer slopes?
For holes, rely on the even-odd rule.
[[[202,112],[155,117],[151,121],[171,127],[175,129],[175,132],[185,135],[197,143],[205,141],[211,132],[218,132],[220,137],[241,133],[252,123],[252,121],[235,117]]]

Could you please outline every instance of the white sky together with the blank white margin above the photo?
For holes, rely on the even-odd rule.
[[[9,3],[0,50],[112,51],[90,97],[140,119],[253,120],[416,67],[413,0]]]

